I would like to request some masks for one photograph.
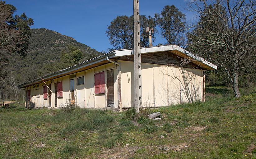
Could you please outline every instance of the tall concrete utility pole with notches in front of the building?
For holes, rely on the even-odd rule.
[[[142,103],[141,88],[141,53],[140,53],[140,13],[139,0],[133,0],[134,16],[134,107],[138,113]]]

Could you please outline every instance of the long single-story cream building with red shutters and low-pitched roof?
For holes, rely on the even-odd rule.
[[[181,66],[181,59],[192,59]],[[26,107],[130,108],[134,98],[133,50],[114,50],[18,86]],[[204,101],[203,71],[217,66],[177,45],[141,48],[142,106]]]

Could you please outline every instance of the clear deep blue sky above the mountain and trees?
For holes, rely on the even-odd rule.
[[[107,26],[119,15],[133,14],[133,0],[6,0],[17,8],[16,14],[26,12],[34,20],[32,28],[46,28],[71,36],[98,51],[112,48],[105,34]],[[140,0],[140,14],[154,16],[165,5],[175,5],[187,19],[185,0]],[[153,44],[165,43],[160,35]]]

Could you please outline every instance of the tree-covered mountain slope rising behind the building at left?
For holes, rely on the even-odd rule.
[[[12,72],[16,83],[33,80],[42,75],[86,61],[101,53],[77,42],[72,37],[48,29],[31,29],[27,56],[13,55]]]

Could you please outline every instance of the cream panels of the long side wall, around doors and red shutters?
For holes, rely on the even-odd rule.
[[[70,92],[70,80],[74,79],[74,94],[75,94],[75,101],[77,102],[78,106],[81,108],[105,108],[106,106],[106,98],[105,94],[94,94],[94,74],[97,72],[105,71],[106,70],[114,70],[114,107],[118,107],[118,81],[117,81],[117,68],[116,65],[113,63],[109,63],[103,66],[95,67],[90,70],[81,71],[76,73],[76,78],[70,78],[70,75],[66,75],[60,78],[56,78],[54,80],[45,81],[45,83],[51,84],[51,107],[55,107],[55,94],[54,94],[54,83],[62,81],[63,83],[63,97],[57,98],[57,107],[61,107],[63,103],[65,103],[71,95]],[[83,77],[85,78],[84,84],[77,85],[77,78]],[[105,81],[106,83],[106,81]],[[34,106],[34,108],[39,107],[49,107],[49,98],[43,98],[43,86],[45,84],[42,82],[40,83],[39,89],[33,89],[33,86],[25,88],[25,90],[30,89],[30,103]],[[105,87],[106,90],[106,87]],[[25,103],[26,105],[26,103]]]

